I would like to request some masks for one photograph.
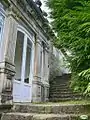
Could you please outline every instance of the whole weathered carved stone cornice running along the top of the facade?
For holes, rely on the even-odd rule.
[[[34,28],[34,32],[36,28],[39,28],[40,31],[46,36],[47,40],[50,40],[54,37],[54,33],[49,27],[47,19],[44,18],[43,13],[40,12],[39,8],[36,6],[33,0],[1,0],[0,2],[6,8],[8,8],[9,11],[11,10],[15,13],[13,16],[16,19],[23,19],[26,21],[25,19],[28,16],[28,23],[32,26],[32,28]],[[26,18],[24,19],[25,14]],[[34,23],[33,25],[32,21]]]

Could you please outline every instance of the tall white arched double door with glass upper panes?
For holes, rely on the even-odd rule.
[[[32,100],[33,61],[33,36],[18,30],[15,52],[16,75],[13,81],[14,102],[31,102]]]

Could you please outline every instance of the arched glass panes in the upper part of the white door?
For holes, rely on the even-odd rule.
[[[30,83],[32,42],[27,33],[23,30],[17,32],[16,52],[15,52],[15,80]]]

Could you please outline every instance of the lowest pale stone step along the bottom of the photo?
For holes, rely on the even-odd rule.
[[[87,115],[90,117],[89,114],[37,114],[37,113],[3,113],[1,115],[1,120],[7,120],[5,118],[10,117],[10,120],[14,120],[14,118],[20,118],[20,117],[30,117],[30,118],[36,118],[36,119],[45,119],[46,118],[71,118],[71,117],[80,117],[81,115]],[[16,120],[16,119],[15,119]]]

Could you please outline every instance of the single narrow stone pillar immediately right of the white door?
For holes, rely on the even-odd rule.
[[[35,43],[35,58],[34,58],[34,80],[32,85],[32,101],[41,102],[41,73],[40,73],[40,47],[41,43],[37,38]]]

